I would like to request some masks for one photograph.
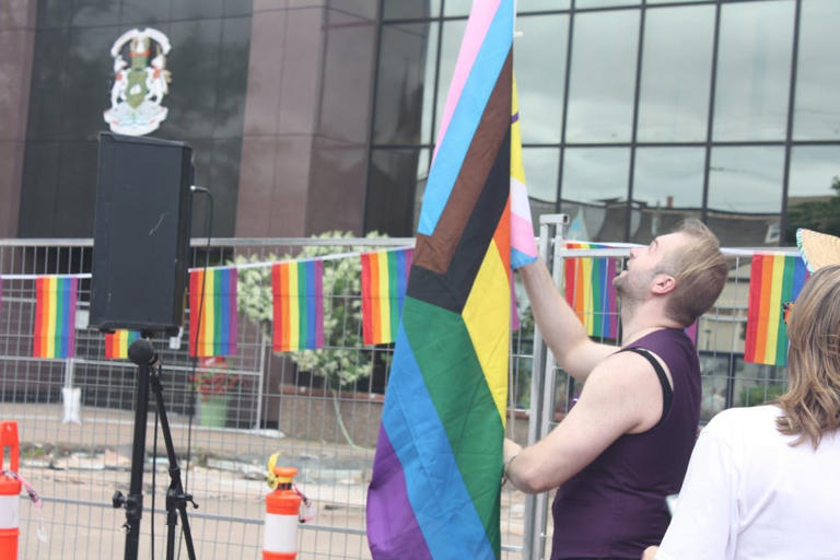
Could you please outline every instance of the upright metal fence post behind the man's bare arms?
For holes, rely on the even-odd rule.
[[[563,225],[569,223],[567,214],[542,214],[539,217],[539,255],[547,266],[552,265],[552,246],[562,241]],[[562,267],[553,259],[555,284],[557,285]],[[530,365],[530,410],[528,411],[528,445],[542,439],[549,431],[553,419],[555,400],[555,360],[546,351],[546,345],[537,325],[534,325],[534,359]],[[541,559],[545,556],[546,515],[548,513],[548,493],[525,497],[523,526],[523,560]]]

